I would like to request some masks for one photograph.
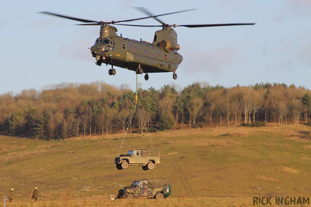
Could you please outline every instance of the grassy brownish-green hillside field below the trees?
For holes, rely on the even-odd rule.
[[[65,141],[0,136],[0,206],[11,188],[14,202],[7,206],[33,206],[34,187],[42,195],[35,206],[253,206],[254,196],[308,197],[309,132],[289,125],[151,133],[161,164],[148,171],[116,169],[123,134]],[[128,134],[121,154],[132,149],[151,149],[147,135]],[[110,200],[144,178],[168,178],[172,194],[160,201]]]

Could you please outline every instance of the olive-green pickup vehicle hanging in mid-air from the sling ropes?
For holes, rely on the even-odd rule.
[[[117,169],[127,169],[129,165],[140,165],[143,170],[152,170],[160,164],[159,150],[130,150],[128,154],[119,155],[114,159]]]

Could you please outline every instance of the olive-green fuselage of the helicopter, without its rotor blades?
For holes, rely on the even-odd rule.
[[[174,30],[174,32],[171,30],[173,29],[169,28],[157,32],[167,33],[167,36],[171,36],[173,40],[171,41],[168,38],[168,41],[175,42],[176,37],[173,36],[177,36],[177,34]],[[154,42],[151,44],[142,40],[137,41],[120,37],[116,34],[116,31],[117,29],[113,26],[101,26],[100,37],[96,39],[95,44],[91,47],[91,54],[96,58],[97,65],[104,63],[133,71],[142,68],[144,73],[160,73],[175,72],[183,60],[183,56],[176,50],[160,47],[160,41],[163,38],[158,38],[158,42],[156,40],[157,32]],[[171,33],[174,35],[170,35]],[[163,37],[165,37],[165,34]]]

